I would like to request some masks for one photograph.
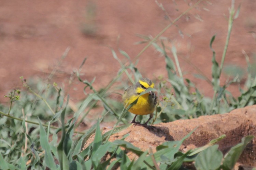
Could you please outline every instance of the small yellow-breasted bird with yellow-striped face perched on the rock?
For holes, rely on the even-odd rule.
[[[147,79],[142,78],[133,86],[128,87],[123,95],[123,103],[125,108],[127,108],[132,102],[138,99],[137,103],[132,105],[129,109],[129,112],[135,114],[131,123],[141,124],[140,122],[136,122],[135,119],[137,115],[148,115],[150,114],[150,118],[144,123],[141,124],[146,126],[147,123],[152,119],[153,112],[156,109],[157,97],[153,91],[149,91],[146,94],[140,96],[140,94],[146,91],[148,88],[154,88],[154,83]]]

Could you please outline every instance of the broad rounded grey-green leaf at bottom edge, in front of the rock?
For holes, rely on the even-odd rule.
[[[218,145],[213,145],[200,152],[195,159],[198,170],[215,170],[221,166],[223,154],[218,150]]]

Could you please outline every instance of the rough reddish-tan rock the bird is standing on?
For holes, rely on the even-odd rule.
[[[192,130],[195,132],[183,142],[181,147],[184,152],[186,148],[201,147],[212,139],[225,134],[226,138],[219,141],[219,150],[225,154],[229,149],[239,142],[244,136],[256,135],[256,105],[247,106],[231,111],[230,113],[212,116],[200,116],[197,119],[176,120],[168,123],[154,124],[153,126],[134,126],[113,134],[109,141],[122,139],[129,134],[125,141],[140,148],[142,151],[150,147],[155,152],[155,148],[165,141],[181,140]],[[111,129],[103,129],[105,133]],[[92,142],[94,136],[88,139],[84,149]],[[129,158],[135,155],[130,154]],[[241,165],[256,166],[256,143],[255,138],[248,143],[238,161]]]

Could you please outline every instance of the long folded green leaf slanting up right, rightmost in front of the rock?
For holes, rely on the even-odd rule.
[[[254,138],[254,136],[246,136],[242,138],[241,143],[232,147],[224,156],[222,168],[224,170],[233,169],[246,145]]]

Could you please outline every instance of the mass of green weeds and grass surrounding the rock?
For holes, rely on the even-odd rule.
[[[194,8],[191,6],[181,16],[173,20],[155,38],[143,36],[141,43],[148,43],[145,48],[133,59],[119,50],[120,54],[126,57],[128,62],[123,64],[116,52],[112,50],[113,57],[120,63],[120,70],[117,76],[103,89],[97,91],[94,80],[82,80],[80,72],[82,66],[75,71],[77,78],[85,84],[84,91],[89,88],[91,92],[82,101],[76,111],[73,111],[69,104],[69,97],[64,96],[62,88],[55,83],[53,85],[44,82],[31,84],[21,77],[22,83],[27,91],[12,91],[5,96],[10,98],[10,107],[0,106],[0,168],[1,169],[181,169],[185,168],[185,162],[195,162],[197,169],[232,169],[237,162],[243,149],[253,139],[253,136],[246,136],[241,143],[232,147],[225,155],[218,150],[216,142],[223,139],[225,135],[210,141],[207,145],[186,153],[179,151],[183,141],[194,131],[187,134],[180,141],[167,141],[156,148],[153,153],[151,149],[141,151],[139,148],[126,142],[125,136],[122,140],[108,141],[109,137],[130,124],[127,117],[127,109],[120,107],[120,101],[110,99],[109,89],[120,81],[123,74],[134,84],[141,78],[139,69],[136,68],[139,56],[149,47],[153,46],[160,52],[166,61],[168,77],[158,77],[154,91],[158,91],[156,116],[152,123],[170,122],[177,119],[189,119],[201,115],[211,115],[229,112],[232,109],[252,105],[256,103],[255,88],[256,79],[250,73],[248,67],[245,88],[240,89],[241,96],[234,98],[226,88],[233,82],[238,82],[238,77],[221,86],[223,63],[229,43],[233,20],[238,17],[239,8],[235,13],[234,1],[230,8],[228,24],[228,35],[220,65],[215,60],[215,51],[212,48],[215,36],[210,41],[212,49],[212,81],[204,77],[213,87],[214,96],[212,99],[204,97],[195,85],[183,78],[179,60],[174,46],[168,47],[162,33],[171,27],[179,18]],[[173,55],[174,61],[167,51]],[[63,55],[65,56],[65,55]],[[135,64],[134,64],[135,63]],[[174,64],[175,63],[175,64]],[[176,72],[177,70],[177,72]],[[53,73],[54,74],[54,71]],[[49,79],[52,78],[52,74]],[[201,75],[203,77],[203,75]],[[238,82],[239,83],[239,82]],[[122,90],[127,88],[125,83]],[[195,92],[191,92],[193,88]],[[136,102],[136,101],[135,101]],[[76,128],[86,118],[87,114],[101,103],[104,107],[101,117],[97,123],[89,129],[77,132]],[[85,112],[86,110],[86,112]],[[67,116],[69,114],[69,116]],[[100,122],[108,115],[116,118],[113,129],[104,134],[100,131]],[[140,117],[142,119],[142,117]],[[120,125],[120,126],[117,126]],[[84,143],[92,135],[94,141],[82,150]],[[125,150],[121,149],[125,148]],[[130,160],[127,156],[130,151],[138,156],[138,159]]]

